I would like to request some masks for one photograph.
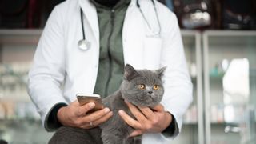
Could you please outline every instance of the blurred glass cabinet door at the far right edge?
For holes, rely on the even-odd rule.
[[[206,144],[255,142],[256,31],[203,34]]]

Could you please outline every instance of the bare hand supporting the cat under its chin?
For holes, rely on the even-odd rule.
[[[141,135],[144,133],[160,133],[170,125],[172,116],[164,110],[161,104],[154,108],[134,106],[130,102],[126,102],[134,118],[126,114],[125,111],[119,110],[118,113],[122,119],[135,130],[130,134],[130,137]]]

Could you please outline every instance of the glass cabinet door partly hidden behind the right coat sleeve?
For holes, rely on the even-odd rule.
[[[174,139],[175,144],[202,144],[202,58],[201,34],[195,30],[182,30],[186,62],[194,86],[193,102],[183,118],[182,133]]]

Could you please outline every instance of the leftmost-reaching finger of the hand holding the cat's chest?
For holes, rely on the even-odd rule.
[[[125,111],[119,110],[118,114],[129,126],[134,129],[142,129],[142,125],[138,121],[134,120],[134,118],[131,118],[130,115],[126,114]]]

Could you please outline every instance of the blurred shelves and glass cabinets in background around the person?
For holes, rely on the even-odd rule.
[[[178,17],[194,102],[174,144],[256,142],[256,1],[159,0]],[[26,93],[42,29],[63,0],[0,0],[0,144],[47,143]]]

